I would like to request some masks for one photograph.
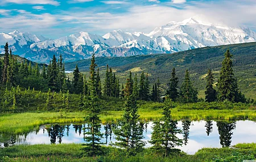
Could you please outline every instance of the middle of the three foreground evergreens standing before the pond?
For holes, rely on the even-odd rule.
[[[114,128],[116,135],[115,146],[125,148],[127,155],[136,155],[142,151],[144,142],[143,127],[138,123],[138,107],[134,93],[131,93],[133,84],[130,78],[127,78],[125,86],[125,113],[118,126]]]

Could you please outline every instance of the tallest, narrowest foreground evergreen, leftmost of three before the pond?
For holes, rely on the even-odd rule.
[[[85,117],[85,122],[87,123],[87,127],[85,129],[87,130],[85,132],[85,144],[83,144],[85,147],[82,148],[85,151],[85,154],[88,156],[97,156],[102,152],[101,150],[101,142],[103,134],[100,132],[101,129],[101,120],[99,117],[100,114],[100,105],[99,105],[99,99],[96,92],[96,68],[95,64],[95,57],[94,54],[92,55],[92,60],[90,64],[90,80],[89,80],[89,103],[88,103],[88,111],[89,114]]]

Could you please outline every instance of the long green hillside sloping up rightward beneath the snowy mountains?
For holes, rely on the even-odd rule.
[[[159,77],[163,86],[170,79],[173,67],[176,68],[180,84],[185,70],[188,69],[196,88],[200,90],[200,97],[203,97],[205,74],[210,68],[213,70],[215,77],[218,77],[221,62],[224,59],[224,53],[227,49],[230,49],[230,52],[234,55],[234,72],[238,79],[238,86],[240,86],[246,97],[256,99],[256,43],[197,48],[172,54],[97,57],[96,63],[100,67],[100,70],[102,70],[102,74],[104,73],[106,64],[108,64],[117,71],[121,79],[126,77],[129,70],[138,73],[141,73],[143,70],[150,75],[151,82],[155,82]],[[76,64],[79,65],[79,69],[82,72],[87,72],[89,70],[90,59],[67,63],[66,70],[73,70]]]

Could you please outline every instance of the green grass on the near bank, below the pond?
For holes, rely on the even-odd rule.
[[[195,155],[179,153],[170,157],[160,157],[144,149],[137,156],[127,157],[122,149],[103,147],[105,155],[93,159],[82,156],[81,144],[37,144],[18,145],[2,149],[6,161],[241,161],[253,160],[256,156],[256,144],[237,144],[236,148],[203,148]]]

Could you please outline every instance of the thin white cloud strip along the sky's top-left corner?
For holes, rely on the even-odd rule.
[[[31,4],[31,5],[53,5],[53,6],[59,6],[60,2],[54,1],[54,0],[1,0],[0,4],[5,3],[17,3],[17,4]]]

